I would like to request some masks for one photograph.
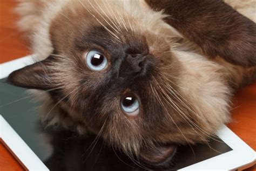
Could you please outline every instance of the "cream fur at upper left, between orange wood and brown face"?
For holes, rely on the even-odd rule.
[[[53,18],[68,0],[20,0],[16,8],[21,19],[19,28],[28,34],[31,52],[36,54],[35,60],[43,60],[52,52],[49,28]]]

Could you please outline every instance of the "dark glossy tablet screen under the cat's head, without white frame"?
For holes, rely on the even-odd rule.
[[[0,113],[32,151],[50,170],[143,170],[132,156],[107,146],[96,135],[80,136],[60,127],[41,125],[35,102],[26,89],[0,83]],[[222,140],[211,139],[208,145],[180,146],[165,169],[180,169],[214,156],[232,151]],[[158,169],[152,168],[152,169]]]

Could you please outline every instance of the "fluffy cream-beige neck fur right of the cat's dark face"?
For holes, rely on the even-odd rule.
[[[227,78],[223,77],[224,67],[209,62],[198,54],[178,51],[173,53],[179,56],[184,67],[180,91],[196,109],[195,114],[204,125],[202,128],[215,132],[230,120],[228,110],[232,90]]]

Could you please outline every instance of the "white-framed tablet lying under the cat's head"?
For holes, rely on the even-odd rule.
[[[0,140],[28,170],[147,170],[132,157],[107,146],[96,135],[78,135],[41,124],[33,95],[4,83],[14,70],[33,63],[28,56],[0,65]],[[244,169],[254,165],[255,152],[226,126],[209,143],[180,146],[167,170]]]

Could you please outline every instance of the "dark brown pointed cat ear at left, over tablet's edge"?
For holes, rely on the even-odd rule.
[[[53,87],[50,65],[52,57],[12,72],[6,82],[18,87],[49,90]]]

